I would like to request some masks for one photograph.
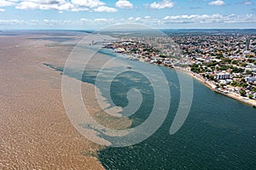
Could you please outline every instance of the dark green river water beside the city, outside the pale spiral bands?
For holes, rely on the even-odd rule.
[[[108,51],[102,53],[108,54]],[[116,57],[114,54],[109,55]],[[128,62],[132,66],[156,66],[138,61]],[[55,69],[61,71],[60,68]],[[175,71],[165,67],[160,69],[170,83],[172,94],[165,122],[142,143],[100,150],[98,158],[103,167],[121,170],[256,169],[256,110],[216,94],[201,82],[194,80],[194,98],[189,116],[183,127],[170,135],[169,130],[180,99],[179,82]],[[84,71],[82,81],[94,84],[96,73],[97,71]],[[76,77],[76,72],[73,71],[69,76]],[[143,122],[152,109],[154,91],[148,83],[146,77],[131,70],[120,74],[111,85],[114,104],[123,107],[127,105],[126,94],[130,88],[143,91],[142,106],[131,116],[132,126]],[[104,96],[104,93],[102,95]]]

